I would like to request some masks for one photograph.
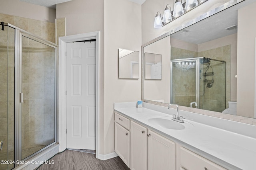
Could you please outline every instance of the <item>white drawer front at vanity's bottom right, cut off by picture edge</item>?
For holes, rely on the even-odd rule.
[[[185,170],[226,170],[222,166],[183,147],[180,147],[180,164]]]

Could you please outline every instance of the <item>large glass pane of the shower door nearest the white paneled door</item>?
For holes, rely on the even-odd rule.
[[[21,160],[56,141],[56,48],[22,36]]]

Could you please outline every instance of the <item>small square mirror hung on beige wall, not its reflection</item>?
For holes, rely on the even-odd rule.
[[[140,52],[118,49],[118,78],[139,78]]]

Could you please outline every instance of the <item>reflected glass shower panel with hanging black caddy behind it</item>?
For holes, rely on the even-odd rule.
[[[226,62],[200,59],[200,109],[226,108]]]

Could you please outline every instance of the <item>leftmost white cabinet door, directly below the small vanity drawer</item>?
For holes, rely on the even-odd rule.
[[[130,131],[115,122],[115,152],[130,167]]]

